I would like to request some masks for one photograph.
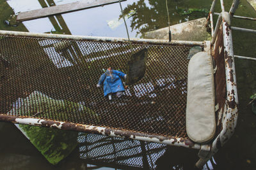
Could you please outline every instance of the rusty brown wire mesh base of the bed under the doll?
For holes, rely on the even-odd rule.
[[[145,76],[108,101],[96,84],[109,66],[127,73],[147,48]],[[187,138],[191,46],[0,36],[0,113]]]

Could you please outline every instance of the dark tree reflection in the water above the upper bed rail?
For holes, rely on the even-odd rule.
[[[195,4],[192,5],[195,7],[191,8],[191,4]],[[170,13],[170,24],[174,25],[180,22],[205,17],[208,13],[205,8],[208,8],[205,2],[200,4],[200,6],[196,6],[196,3],[189,0],[169,1],[168,10]],[[131,28],[132,31],[136,30],[136,36],[138,36],[138,34],[142,34],[143,36],[145,32],[168,27],[165,0],[136,1],[132,4],[128,4],[128,6],[124,8],[124,15],[131,18]],[[119,19],[121,18],[122,15],[119,16]]]

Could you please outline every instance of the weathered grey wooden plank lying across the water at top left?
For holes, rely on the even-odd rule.
[[[126,0],[121,0],[126,1]],[[60,4],[57,6],[50,6],[38,10],[31,10],[19,13],[17,21],[33,20],[36,18],[49,17],[51,15],[68,13],[72,11],[84,10],[94,8],[106,4],[118,3],[118,0],[85,0],[76,3]]]

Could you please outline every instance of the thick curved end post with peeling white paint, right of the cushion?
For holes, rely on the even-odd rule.
[[[238,116],[238,96],[237,96],[237,85],[236,85],[236,70],[234,63],[233,43],[232,43],[232,30],[230,27],[230,14],[223,13],[223,45],[224,45],[224,57],[225,57],[225,74],[226,74],[226,85],[227,85],[227,99],[225,103],[224,114],[225,118],[222,122],[223,129],[220,134],[214,139],[212,143],[211,152],[207,157],[200,158],[196,162],[196,167],[202,167],[209,158],[218,152],[218,150],[227,143],[228,139],[234,134],[234,129],[237,124]]]

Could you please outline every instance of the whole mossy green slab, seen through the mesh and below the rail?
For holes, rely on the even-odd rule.
[[[8,112],[8,115],[42,118],[68,122],[99,122],[97,113],[81,103],[64,99],[52,99],[42,92],[34,91],[25,99],[18,99],[18,107]],[[31,143],[51,164],[58,164],[77,146],[78,132],[61,131],[59,129],[19,125]]]

